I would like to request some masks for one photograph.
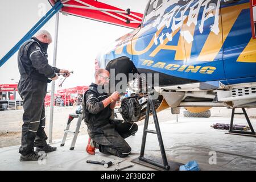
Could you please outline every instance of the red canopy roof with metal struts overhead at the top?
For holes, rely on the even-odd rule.
[[[48,0],[52,6],[55,0]],[[138,28],[142,22],[143,14],[122,10],[95,0],[62,0],[63,7],[60,12],[80,16],[82,18],[115,24],[127,28]]]

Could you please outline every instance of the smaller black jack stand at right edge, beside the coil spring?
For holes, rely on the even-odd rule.
[[[233,135],[242,135],[242,136],[247,136],[247,137],[256,137],[256,133],[253,129],[253,125],[251,125],[250,119],[245,111],[245,108],[241,108],[242,109],[242,113],[235,113],[235,109],[232,109],[232,114],[231,114],[231,121],[230,121],[230,128],[229,128],[229,133],[226,134],[233,134]],[[245,115],[246,121],[250,127],[251,131],[237,131],[237,130],[233,130],[233,121],[234,121],[234,115],[235,114],[241,114],[241,115]]]

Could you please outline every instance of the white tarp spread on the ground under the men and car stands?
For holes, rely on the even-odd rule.
[[[251,119],[256,129],[256,120]],[[201,170],[256,170],[256,138],[225,134],[224,130],[210,128],[212,123],[229,123],[229,118],[181,118],[179,122],[160,122],[164,147],[167,158],[175,162],[187,163],[196,160]],[[235,119],[237,124],[246,124],[245,119]],[[149,129],[154,129],[150,125]],[[141,149],[143,126],[135,136],[127,138],[132,154],[125,158],[126,162],[120,167],[128,166],[130,160],[137,158]],[[70,136],[70,135],[69,135]],[[96,164],[87,164],[86,160],[122,160],[116,156],[109,156],[96,152],[89,155],[85,152],[88,135],[81,135],[77,139],[75,150],[70,151],[71,140],[67,140],[64,147],[57,146],[57,151],[49,153],[41,164],[38,162],[19,162],[19,146],[0,148],[0,170],[114,170],[116,166],[104,168]],[[216,152],[216,164],[209,164],[209,159]],[[159,144],[154,134],[148,134],[145,154],[160,156]],[[129,170],[151,170],[135,164]]]

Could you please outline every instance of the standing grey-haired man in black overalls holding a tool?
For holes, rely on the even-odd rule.
[[[24,42],[19,49],[18,92],[22,97],[24,109],[22,144],[19,148],[20,161],[38,160],[39,151],[47,153],[56,150],[56,147],[51,147],[46,143],[44,97],[47,94],[47,83],[58,78],[56,73],[66,73],[66,76],[70,73],[48,64],[47,47],[51,42],[49,32],[40,30],[35,37]],[[36,152],[34,146],[36,146]]]

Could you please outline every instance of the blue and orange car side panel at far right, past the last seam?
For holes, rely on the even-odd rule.
[[[252,36],[253,2],[256,4],[252,0],[221,3],[224,68],[230,84],[235,84],[238,81],[236,78],[249,82],[251,77],[256,77],[256,39]]]

